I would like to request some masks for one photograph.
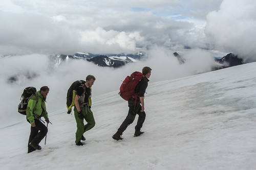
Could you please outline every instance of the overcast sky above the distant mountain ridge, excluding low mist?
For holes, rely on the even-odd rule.
[[[255,8],[253,0],[5,0],[0,54],[135,53],[157,45],[256,56]]]

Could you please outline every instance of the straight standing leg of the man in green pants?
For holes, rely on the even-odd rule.
[[[80,107],[82,114],[84,115],[84,107]],[[78,117],[78,112],[76,107],[74,108],[74,115],[75,115],[75,119],[76,119],[76,143],[78,143],[81,139],[82,139],[82,134],[84,133],[84,125],[83,125],[83,119],[80,119]]]

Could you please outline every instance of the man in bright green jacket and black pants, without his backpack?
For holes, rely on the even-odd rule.
[[[44,117],[46,122],[50,123],[45,104],[48,93],[49,88],[42,86],[28,101],[26,117],[27,121],[31,124],[28,153],[42,149],[39,143],[48,132],[47,127],[41,122],[41,117]]]

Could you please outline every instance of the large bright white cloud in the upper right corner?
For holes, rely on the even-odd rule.
[[[256,61],[256,3],[252,0],[224,0],[220,10],[207,15],[205,32],[228,53],[239,54],[245,61]]]

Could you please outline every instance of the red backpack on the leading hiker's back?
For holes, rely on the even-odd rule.
[[[143,75],[139,71],[135,71],[131,74],[131,76],[127,76],[121,84],[120,92],[118,93],[121,98],[123,98],[125,101],[128,101],[129,99],[134,97],[136,98],[134,89],[139,81],[142,79],[142,77]]]

